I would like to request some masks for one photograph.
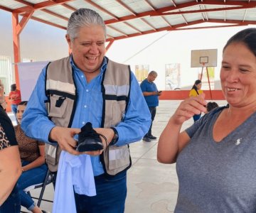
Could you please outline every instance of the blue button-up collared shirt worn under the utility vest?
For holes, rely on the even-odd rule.
[[[70,63],[73,67],[74,80],[78,92],[75,115],[73,118],[73,128],[81,128],[87,122],[92,123],[93,128],[100,127],[102,120],[102,74],[107,67],[107,58],[104,58],[100,67],[100,74],[89,83],[84,73],[75,65],[71,57]],[[46,67],[43,68],[38,77],[36,87],[28,101],[26,110],[23,114],[21,128],[26,135],[38,141],[48,141],[50,130],[55,124],[48,119],[48,112],[44,102],[47,100],[45,94]],[[151,114],[146,105],[142,90],[139,87],[136,77],[132,73],[131,91],[129,104],[124,120],[120,122],[116,129],[119,134],[117,146],[139,141],[149,130],[151,124]],[[99,156],[91,156],[92,168],[95,176],[104,173]]]

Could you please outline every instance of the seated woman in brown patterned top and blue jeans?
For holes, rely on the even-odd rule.
[[[18,125],[14,126],[18,150],[21,155],[22,174],[18,178],[18,189],[21,197],[21,205],[33,213],[41,213],[30,195],[23,190],[31,185],[40,184],[46,178],[47,166],[45,163],[45,143],[28,138],[21,129],[21,119],[28,102],[18,104]]]

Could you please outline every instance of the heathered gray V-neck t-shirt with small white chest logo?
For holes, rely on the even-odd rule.
[[[175,212],[256,212],[256,113],[222,141],[213,125],[224,107],[186,129],[191,141],[178,155]]]

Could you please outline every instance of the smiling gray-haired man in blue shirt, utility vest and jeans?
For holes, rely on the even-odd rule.
[[[119,163],[118,159],[123,157],[130,160],[129,154],[123,156],[122,152],[115,152],[115,148],[128,147],[129,143],[140,141],[151,123],[149,109],[134,74],[129,72],[128,85],[120,86],[118,83],[127,73],[123,68],[128,71],[129,66],[105,57],[106,35],[105,23],[95,11],[78,9],[71,14],[65,37],[72,54],[43,68],[21,122],[21,128],[31,138],[58,143],[62,151],[72,155],[90,155],[97,195],[79,195],[74,188],[77,212],[124,212],[127,169],[131,163],[117,174],[110,175],[107,170],[115,165],[106,166],[103,158],[115,159],[115,163]],[[62,67],[58,67],[60,64]],[[56,76],[60,80],[55,79]],[[68,82],[62,82],[63,79]],[[53,99],[56,101],[53,102]],[[46,107],[49,100],[50,114]],[[107,107],[109,103],[112,107]],[[124,108],[123,104],[127,106],[120,110]],[[70,106],[73,107],[70,124],[65,127],[58,121],[66,122]],[[53,112],[52,109],[56,110]],[[117,124],[107,124],[107,121],[118,119]],[[104,150],[80,153],[75,149],[75,139],[87,122],[92,123],[97,133],[105,136],[106,140],[102,139]],[[113,147],[114,150],[106,152]],[[58,174],[61,173],[58,171]]]

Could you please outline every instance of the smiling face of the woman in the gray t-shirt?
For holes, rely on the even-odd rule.
[[[223,51],[220,82],[231,106],[256,102],[256,57],[244,43],[230,43]]]

